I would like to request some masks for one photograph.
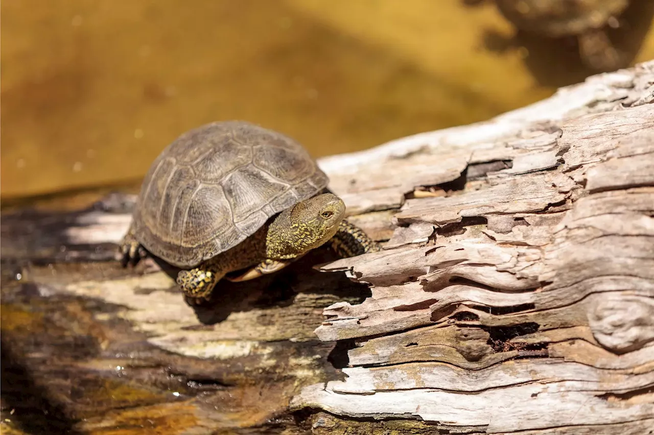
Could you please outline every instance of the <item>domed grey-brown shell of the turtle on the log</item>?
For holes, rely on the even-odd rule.
[[[209,123],[182,134],[152,163],[134,210],[134,235],[164,261],[193,267],[327,184],[292,138],[245,121]]]

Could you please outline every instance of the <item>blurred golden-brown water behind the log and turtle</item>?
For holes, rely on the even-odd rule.
[[[3,0],[3,206],[133,189],[209,121],[260,123],[320,157],[486,120],[602,70],[577,27],[525,32],[538,26],[496,1]],[[609,65],[654,58],[654,1],[590,3],[584,19],[621,54]]]

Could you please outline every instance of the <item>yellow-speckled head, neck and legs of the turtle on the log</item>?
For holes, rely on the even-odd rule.
[[[230,281],[245,281],[276,272],[308,251],[330,242],[340,257],[353,257],[381,250],[362,229],[343,219],[345,204],[336,195],[324,193],[284,210],[249,238],[232,249],[204,261],[198,267],[181,270],[177,283],[192,303],[208,300],[229,272],[248,268]],[[143,247],[128,231],[122,246],[125,263],[136,263]]]

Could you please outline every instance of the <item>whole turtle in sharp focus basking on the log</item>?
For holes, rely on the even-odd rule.
[[[154,255],[181,270],[192,303],[223,278],[252,280],[327,244],[339,257],[381,250],[345,219],[328,176],[293,138],[248,121],[182,133],[152,162],[120,242],[124,266]]]

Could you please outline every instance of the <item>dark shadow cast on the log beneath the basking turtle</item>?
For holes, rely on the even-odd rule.
[[[256,280],[221,280],[216,284],[211,298],[201,304],[194,304],[184,298],[181,292],[179,294],[181,298],[186,299],[186,304],[194,310],[199,323],[203,325],[220,323],[233,312],[288,307],[301,293],[332,296],[353,304],[363,302],[366,297],[371,296],[368,285],[349,280],[343,272],[320,272],[314,268],[315,265],[329,263],[338,258],[334,251],[322,247],[307,253],[279,272],[264,275]],[[177,278],[179,268],[156,257],[152,259],[171,279]],[[175,289],[179,290],[178,287]]]

